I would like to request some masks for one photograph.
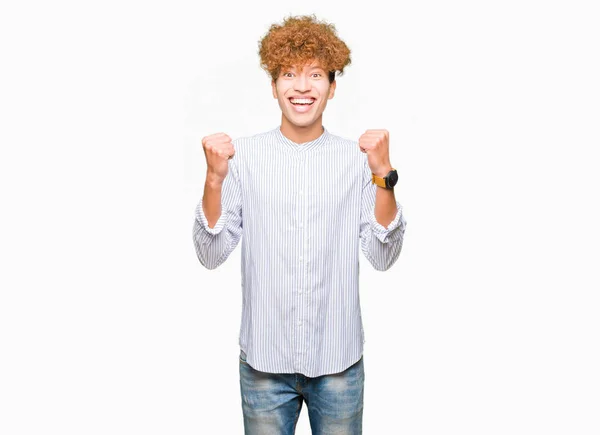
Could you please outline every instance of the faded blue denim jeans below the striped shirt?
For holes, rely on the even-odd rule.
[[[246,435],[293,435],[306,402],[313,435],[362,434],[364,365],[310,378],[252,368],[240,351],[240,387]]]

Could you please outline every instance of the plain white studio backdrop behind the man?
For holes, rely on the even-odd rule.
[[[258,41],[312,13],[352,50],[324,125],[390,131],[408,221],[361,253],[364,433],[600,433],[593,4],[3,3],[0,433],[243,432],[201,139],[279,125]]]

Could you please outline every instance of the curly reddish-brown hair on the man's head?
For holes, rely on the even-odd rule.
[[[319,61],[329,72],[329,82],[344,73],[351,62],[350,49],[337,36],[335,26],[313,15],[286,17],[282,25],[272,24],[259,41],[260,66],[276,81],[282,68]]]

